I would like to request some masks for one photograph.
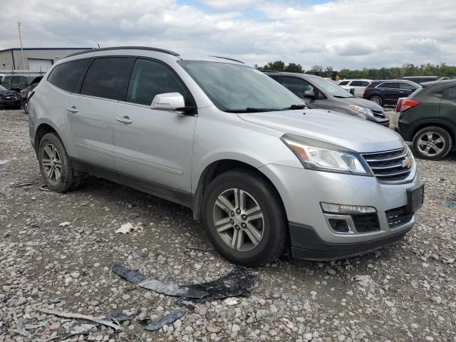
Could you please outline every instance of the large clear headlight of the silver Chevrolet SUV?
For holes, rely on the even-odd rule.
[[[284,135],[285,142],[306,169],[371,176],[371,170],[357,152],[319,140]]]

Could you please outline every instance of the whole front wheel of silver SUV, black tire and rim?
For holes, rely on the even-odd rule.
[[[236,205],[235,192],[242,196],[244,206]],[[233,210],[227,212],[226,201],[231,203]],[[288,242],[285,209],[274,187],[261,175],[248,170],[225,172],[209,184],[202,204],[204,230],[225,259],[234,264],[256,267],[284,253]],[[241,212],[237,212],[239,207],[242,207]],[[255,210],[256,207],[259,211]],[[216,222],[226,223],[216,225]],[[217,227],[221,232],[217,232]],[[239,247],[239,237],[243,237],[242,247]],[[231,247],[233,242],[234,247]]]

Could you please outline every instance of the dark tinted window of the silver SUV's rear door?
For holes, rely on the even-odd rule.
[[[81,94],[118,100],[120,91],[127,88],[130,60],[126,57],[95,59],[87,71]]]

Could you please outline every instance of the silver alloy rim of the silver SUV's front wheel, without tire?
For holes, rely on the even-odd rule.
[[[232,188],[217,197],[213,219],[219,237],[232,249],[247,252],[264,236],[264,215],[249,192]]]

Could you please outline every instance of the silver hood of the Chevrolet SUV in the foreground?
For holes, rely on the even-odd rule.
[[[329,142],[356,152],[379,152],[403,147],[403,138],[377,123],[328,110],[304,109],[242,113],[249,123]]]

